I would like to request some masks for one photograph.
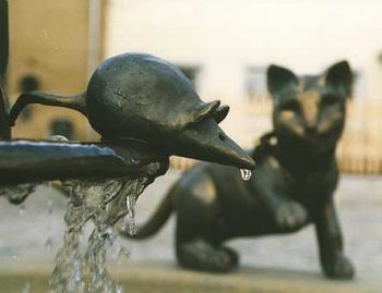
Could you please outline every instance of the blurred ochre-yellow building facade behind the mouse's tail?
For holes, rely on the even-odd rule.
[[[88,75],[103,59],[106,2],[102,0],[16,0],[10,8],[8,90],[62,95],[85,90]],[[92,139],[86,119],[69,109],[28,106],[14,137],[47,138],[61,134]]]

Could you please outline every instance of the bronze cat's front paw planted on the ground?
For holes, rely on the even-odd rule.
[[[338,255],[334,259],[325,261],[323,270],[325,276],[331,279],[337,280],[351,280],[355,276],[355,269],[350,260],[344,256]]]

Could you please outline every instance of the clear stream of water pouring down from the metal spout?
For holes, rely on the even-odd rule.
[[[115,240],[114,224],[126,217],[130,233],[135,232],[134,205],[148,184],[147,178],[107,181],[65,181],[70,198],[64,216],[64,243],[56,256],[50,276],[51,293],[121,293],[106,269],[107,252]],[[84,224],[94,230],[85,253],[80,249]]]

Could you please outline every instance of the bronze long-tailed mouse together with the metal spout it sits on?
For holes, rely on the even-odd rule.
[[[167,171],[170,155],[254,167],[217,125],[229,108],[219,107],[219,101],[204,103],[179,69],[150,54],[124,53],[106,60],[82,95],[25,93],[9,114],[5,107],[0,109],[0,118],[8,117],[13,125],[31,102],[80,111],[102,134],[102,143],[0,143],[0,171],[5,174],[0,185],[140,175],[148,175],[151,183]]]

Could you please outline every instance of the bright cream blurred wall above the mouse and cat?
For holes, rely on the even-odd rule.
[[[314,73],[348,59],[382,98],[382,1],[109,0],[106,54],[147,51],[202,66],[199,91],[240,101],[247,65]]]

